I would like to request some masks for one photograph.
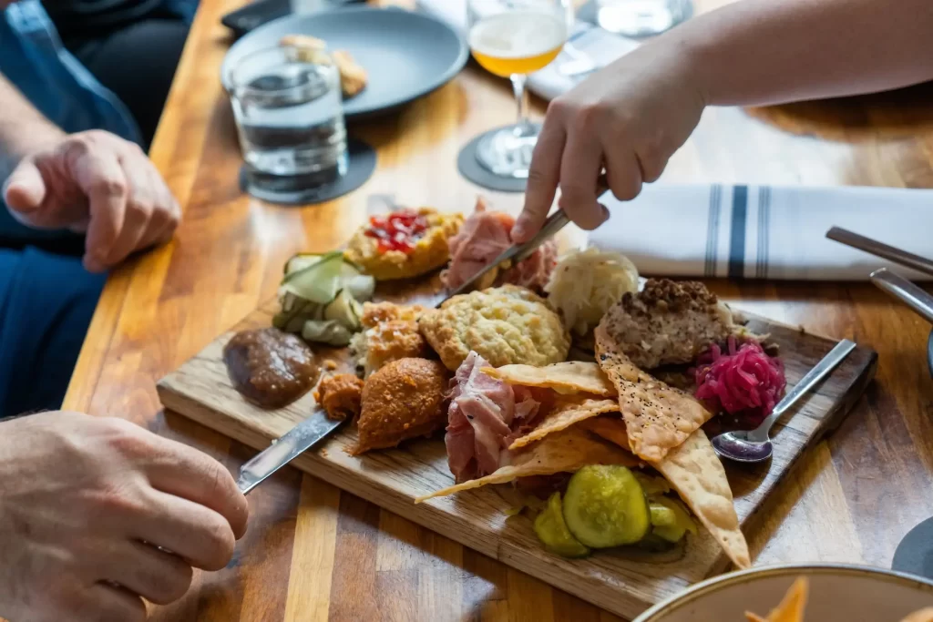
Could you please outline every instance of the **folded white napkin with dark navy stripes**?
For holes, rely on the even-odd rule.
[[[859,281],[890,267],[933,281],[826,239],[838,226],[933,257],[933,190],[661,184],[603,202],[610,218],[588,242],[648,275]]]

